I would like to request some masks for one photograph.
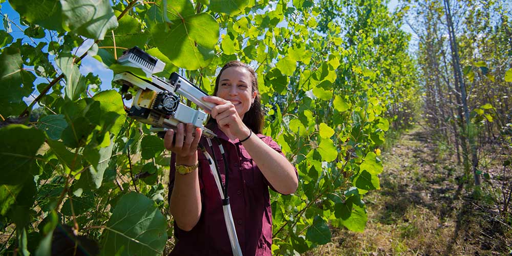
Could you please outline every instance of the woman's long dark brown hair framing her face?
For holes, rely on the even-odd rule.
[[[265,123],[265,115],[263,113],[263,109],[261,107],[261,96],[260,91],[258,90],[258,79],[256,78],[256,73],[254,70],[247,65],[244,62],[238,61],[238,60],[232,60],[226,63],[224,67],[222,67],[221,71],[219,72],[219,75],[217,75],[217,78],[215,79],[215,89],[214,89],[214,95],[217,95],[217,91],[219,90],[219,80],[222,75],[222,72],[224,70],[231,68],[231,67],[242,67],[249,71],[252,78],[252,92],[256,92],[256,97],[254,98],[254,102],[252,102],[251,107],[245,113],[244,118],[242,121],[244,122],[247,127],[249,127],[250,130],[252,130],[253,133],[263,133],[263,124]],[[208,124],[210,123],[216,123],[215,119],[211,118],[208,120]]]

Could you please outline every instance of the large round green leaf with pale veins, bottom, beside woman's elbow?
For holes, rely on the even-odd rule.
[[[101,234],[101,255],[161,255],[167,241],[167,222],[154,202],[142,194],[121,197]]]

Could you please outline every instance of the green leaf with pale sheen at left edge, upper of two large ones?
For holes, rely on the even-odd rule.
[[[29,96],[33,91],[33,80],[24,81],[24,78],[30,75],[32,74],[23,69],[22,56],[16,44],[3,49],[0,54],[0,88],[3,91],[0,100],[20,102],[23,97]],[[0,110],[2,112],[4,111]]]

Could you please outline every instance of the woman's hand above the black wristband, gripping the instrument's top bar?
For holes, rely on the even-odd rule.
[[[227,129],[238,139],[246,138],[249,135],[249,128],[244,124],[231,101],[217,96],[205,96],[203,100],[217,104],[209,114],[217,120],[221,129]]]

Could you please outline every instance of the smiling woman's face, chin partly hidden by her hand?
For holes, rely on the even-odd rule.
[[[252,91],[251,73],[244,67],[225,69],[219,78],[217,97],[231,101],[243,119],[256,97],[256,92]]]

